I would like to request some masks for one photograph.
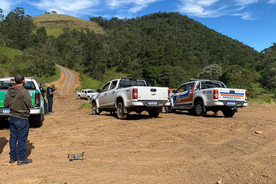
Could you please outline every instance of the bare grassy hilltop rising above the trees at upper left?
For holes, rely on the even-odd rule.
[[[103,28],[98,23],[69,15],[39,15],[33,17],[33,22],[36,24],[37,27],[44,26],[46,28],[48,36],[60,36],[63,33],[63,28],[77,29],[79,31],[81,29],[87,28],[91,31],[94,31],[95,33],[105,33]]]

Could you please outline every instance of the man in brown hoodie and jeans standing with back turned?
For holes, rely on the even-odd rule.
[[[9,87],[4,100],[4,107],[10,109],[10,161],[17,165],[31,163],[32,159],[27,159],[25,154],[27,152],[26,141],[29,134],[29,121],[30,109],[32,100],[30,93],[23,87],[25,79],[22,74],[14,76],[16,86]],[[18,156],[16,153],[16,144],[18,141]]]

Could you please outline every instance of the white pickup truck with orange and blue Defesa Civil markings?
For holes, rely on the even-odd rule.
[[[207,111],[222,111],[225,117],[233,117],[239,107],[248,106],[244,89],[227,88],[220,81],[195,80],[184,83],[170,94],[171,105],[167,113],[186,110],[196,116],[205,116]]]

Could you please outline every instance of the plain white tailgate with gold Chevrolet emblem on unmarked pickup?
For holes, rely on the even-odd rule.
[[[138,100],[168,100],[167,87],[138,86]]]

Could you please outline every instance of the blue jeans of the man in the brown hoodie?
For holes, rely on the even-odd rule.
[[[10,116],[10,158],[16,158],[16,143],[18,141],[18,160],[24,160],[27,152],[26,141],[29,135],[28,119],[21,119]]]

